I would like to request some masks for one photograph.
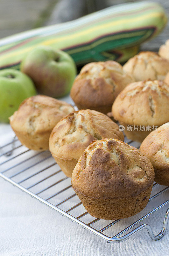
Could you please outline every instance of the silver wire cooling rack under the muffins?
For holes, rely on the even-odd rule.
[[[125,142],[136,148],[139,146],[127,138]],[[161,220],[163,227],[158,235],[154,235],[151,226],[145,221],[148,221],[149,216],[153,220],[153,214],[160,208],[165,209],[169,200],[164,202],[164,194],[169,187],[154,183],[148,205],[135,216],[111,221],[96,219],[86,212],[71,187],[71,179],[61,172],[50,152],[32,151],[21,145],[17,138],[0,148],[0,176],[107,242],[125,241],[143,229],[147,229],[151,239],[158,240],[167,229],[169,208],[166,213],[164,210],[164,221]],[[157,197],[160,198],[160,204]],[[139,225],[140,222],[143,224]]]

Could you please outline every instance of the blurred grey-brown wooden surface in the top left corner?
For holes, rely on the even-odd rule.
[[[0,0],[0,38],[44,26],[58,0]]]

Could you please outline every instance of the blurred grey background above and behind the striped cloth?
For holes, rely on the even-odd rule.
[[[133,0],[0,0],[0,38],[46,25],[77,19],[88,13]],[[154,0],[169,14],[169,0]],[[169,24],[141,50],[158,51],[169,35]]]

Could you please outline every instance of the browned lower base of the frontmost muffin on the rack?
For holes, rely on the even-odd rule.
[[[117,220],[128,218],[142,211],[150,198],[152,185],[153,183],[137,196],[111,199],[88,197],[73,186],[72,188],[90,215],[103,220]]]

